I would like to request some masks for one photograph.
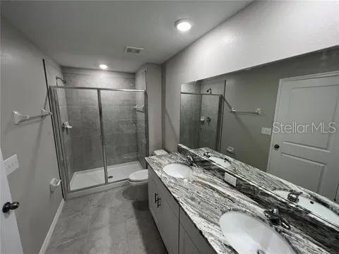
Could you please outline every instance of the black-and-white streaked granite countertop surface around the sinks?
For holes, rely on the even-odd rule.
[[[225,243],[219,226],[221,215],[232,210],[250,214],[272,226],[290,243],[297,254],[338,253],[337,250],[328,252],[322,248],[320,243],[312,241],[293,224],[290,225],[289,230],[271,225],[263,215],[264,209],[257,202],[229,186],[225,181],[218,179],[206,169],[191,167],[194,171],[191,179],[176,179],[167,175],[162,170],[165,165],[173,162],[186,163],[184,157],[178,152],[147,157],[146,161],[216,253],[237,253],[232,246]]]

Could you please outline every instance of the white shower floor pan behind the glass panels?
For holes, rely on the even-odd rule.
[[[143,169],[143,167],[138,161],[108,166],[108,181],[115,182],[126,180],[129,178],[130,174],[141,169]],[[104,168],[100,167],[96,169],[87,169],[84,171],[75,172],[72,176],[70,187],[71,191],[74,191],[79,188],[96,186],[102,183],[105,183],[105,174]]]

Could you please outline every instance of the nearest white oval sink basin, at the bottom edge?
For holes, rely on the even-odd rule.
[[[225,243],[239,254],[295,254],[273,228],[242,212],[227,212],[219,221]]]

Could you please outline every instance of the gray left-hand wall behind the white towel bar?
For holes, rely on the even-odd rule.
[[[19,126],[14,109],[40,114],[47,105],[42,59],[34,44],[1,18],[1,149],[4,158],[18,155],[20,168],[8,176],[25,254],[40,251],[61,202],[61,188],[49,191],[49,181],[59,178],[51,116]]]

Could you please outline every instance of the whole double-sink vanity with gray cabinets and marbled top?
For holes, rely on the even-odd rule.
[[[169,254],[338,253],[339,233],[331,224],[321,224],[309,214],[294,217],[291,214],[297,212],[290,204],[271,198],[263,188],[251,188],[255,193],[247,195],[237,188],[244,186],[242,179],[232,186],[218,167],[191,166],[182,154],[146,158],[150,211]],[[166,170],[172,164],[190,170]],[[268,219],[273,207],[285,223]],[[249,236],[257,242],[246,241]]]

